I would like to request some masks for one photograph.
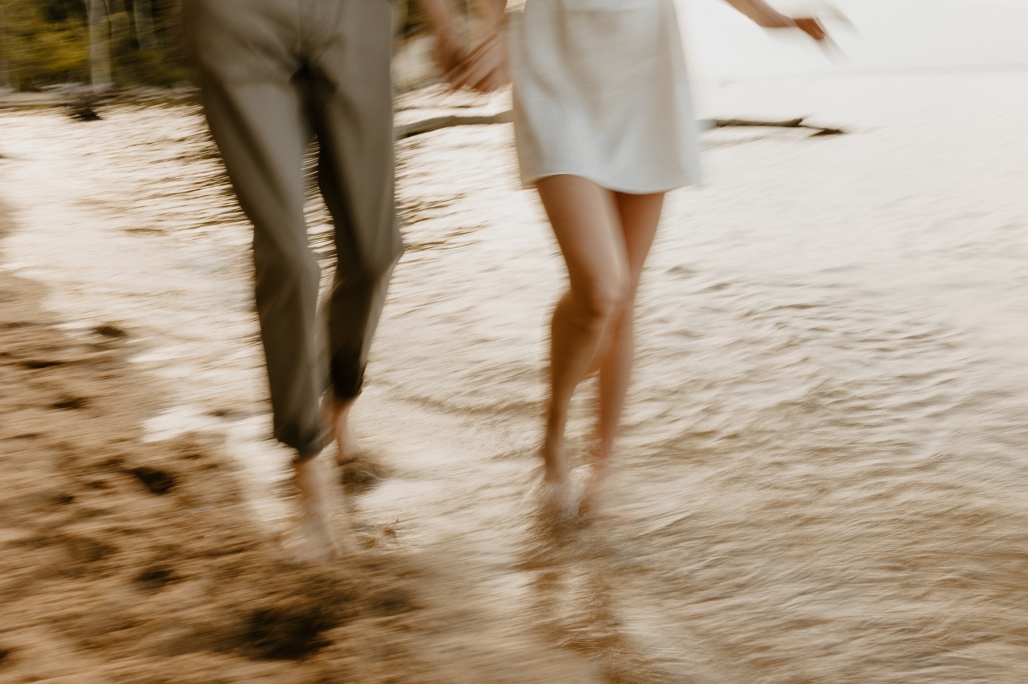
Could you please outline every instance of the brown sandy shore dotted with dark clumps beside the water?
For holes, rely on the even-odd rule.
[[[0,230],[12,229],[0,206]],[[391,530],[332,565],[259,530],[215,438],[142,442],[133,332],[72,339],[0,271],[0,682],[589,682]]]

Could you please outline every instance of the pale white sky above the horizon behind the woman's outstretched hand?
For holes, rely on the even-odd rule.
[[[700,78],[843,69],[1028,67],[1026,0],[835,0],[854,25],[829,22],[845,56],[755,27],[723,0],[676,0]],[[814,2],[770,0],[790,12]],[[792,34],[793,32],[788,32]]]

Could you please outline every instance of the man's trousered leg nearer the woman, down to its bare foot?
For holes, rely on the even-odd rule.
[[[336,272],[326,302],[338,458],[354,454],[347,416],[393,266],[403,245],[393,196],[392,10],[382,0],[321,3],[331,28],[311,64],[319,185],[335,223]]]

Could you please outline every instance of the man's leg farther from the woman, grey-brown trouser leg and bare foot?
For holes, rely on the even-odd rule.
[[[294,482],[303,553],[338,553],[330,531],[333,482],[322,449],[325,387],[317,316],[319,268],[303,220],[303,155],[310,140],[295,7],[278,0],[187,0],[204,106],[240,204],[254,225],[257,312],[274,435],[297,452]]]

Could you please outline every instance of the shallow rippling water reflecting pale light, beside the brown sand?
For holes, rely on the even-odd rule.
[[[441,550],[469,602],[598,681],[1028,680],[1026,92],[1018,72],[699,85],[704,116],[850,134],[704,134],[708,185],[669,197],[645,275],[613,530],[533,512],[562,274],[509,128],[401,143],[408,252],[359,408],[391,474],[358,527],[398,521],[398,547]],[[442,103],[468,104],[503,106]],[[153,439],[224,432],[274,524],[289,455],[264,436],[249,234],[198,113],[0,130],[2,267],[51,283],[70,330],[127,328],[166,381]]]

